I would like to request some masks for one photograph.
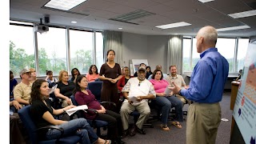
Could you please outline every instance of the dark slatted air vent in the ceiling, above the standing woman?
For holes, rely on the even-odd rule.
[[[147,17],[150,15],[154,15],[154,13],[145,11],[145,10],[136,10],[127,14],[122,14],[119,15],[115,18],[110,18],[110,20],[113,21],[118,21],[118,22],[126,22],[126,23],[130,23],[130,24],[134,24],[134,25],[138,25],[138,23],[134,23],[134,22],[129,22],[131,20],[134,19],[138,19],[138,18],[143,18],[143,17]]]

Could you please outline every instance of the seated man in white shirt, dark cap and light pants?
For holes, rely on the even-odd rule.
[[[136,131],[139,134],[146,134],[142,126],[150,115],[148,99],[156,98],[154,86],[146,79],[146,66],[140,66],[138,68],[138,77],[130,78],[122,88],[122,93],[124,98],[126,98],[126,100],[122,102],[120,110],[124,130],[123,136],[126,137],[128,133],[130,133],[130,136],[134,136]],[[129,114],[134,110],[138,110],[140,115],[136,124],[129,131]]]

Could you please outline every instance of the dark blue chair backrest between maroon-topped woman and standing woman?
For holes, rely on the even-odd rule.
[[[88,83],[88,89],[94,94],[95,98],[100,102],[102,94],[102,81],[95,81]]]

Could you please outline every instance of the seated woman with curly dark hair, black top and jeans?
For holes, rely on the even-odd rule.
[[[111,143],[110,140],[104,140],[98,138],[97,134],[94,133],[94,130],[90,127],[89,123],[85,118],[77,118],[69,122],[54,119],[53,114],[62,114],[66,110],[69,110],[75,106],[66,106],[63,109],[54,110],[50,106],[49,102],[49,87],[46,80],[38,79],[36,80],[31,88],[31,117],[37,126],[41,128],[43,126],[59,126],[64,130],[64,137],[67,135],[78,135],[81,137],[82,144],[88,143]],[[61,134],[59,130],[39,130],[38,138],[41,139],[56,139]]]

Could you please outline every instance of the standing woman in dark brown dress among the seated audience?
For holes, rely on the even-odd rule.
[[[101,101],[119,103],[117,82],[122,78],[121,67],[114,62],[114,50],[108,50],[106,53],[107,61],[101,67],[99,79],[103,81]],[[103,76],[104,75],[104,76]],[[116,110],[119,112],[119,110]]]

